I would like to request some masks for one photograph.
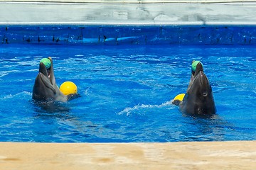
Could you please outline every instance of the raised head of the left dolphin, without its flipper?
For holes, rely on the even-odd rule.
[[[55,77],[53,72],[53,60],[48,57],[51,62],[50,68],[46,69],[45,64],[41,62],[39,64],[39,72],[33,86],[32,98],[35,100],[47,100],[49,98],[55,98],[57,93],[55,84]]]

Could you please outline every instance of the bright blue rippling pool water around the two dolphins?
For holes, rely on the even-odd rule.
[[[52,108],[32,100],[38,62],[53,57],[60,86],[81,95]],[[0,141],[256,140],[256,48],[228,45],[0,45]],[[217,114],[183,115],[191,61],[201,60]]]

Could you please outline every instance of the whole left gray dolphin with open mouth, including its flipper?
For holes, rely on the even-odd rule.
[[[68,101],[71,98],[75,98],[78,94],[69,94],[64,95],[58,86],[56,85],[54,72],[53,72],[53,60],[51,57],[48,57],[51,62],[49,72],[46,69],[45,64],[40,62],[39,64],[39,73],[36,77],[35,84],[33,86],[32,98],[35,101]]]

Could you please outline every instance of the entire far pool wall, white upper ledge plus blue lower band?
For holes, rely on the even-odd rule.
[[[0,2],[1,44],[256,43],[255,2]]]

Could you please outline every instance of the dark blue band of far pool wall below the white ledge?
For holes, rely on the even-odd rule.
[[[255,27],[203,26],[6,26],[1,44],[255,45]]]

